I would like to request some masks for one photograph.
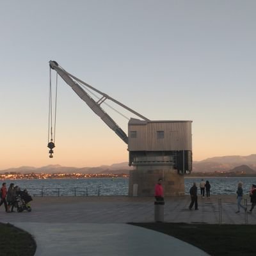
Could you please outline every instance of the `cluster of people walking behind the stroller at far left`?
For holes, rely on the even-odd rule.
[[[4,208],[6,212],[13,212],[13,207],[15,206],[16,196],[19,193],[19,186],[14,186],[14,183],[11,183],[9,188],[6,188],[6,182],[3,182],[0,196],[1,202],[0,206],[4,204]]]

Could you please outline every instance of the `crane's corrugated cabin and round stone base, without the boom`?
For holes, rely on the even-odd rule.
[[[128,123],[129,195],[154,195],[154,183],[164,180],[165,195],[184,195],[184,174],[192,170],[192,121]]]

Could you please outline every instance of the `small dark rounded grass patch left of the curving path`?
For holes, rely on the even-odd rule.
[[[33,256],[36,243],[31,234],[7,223],[0,223],[1,256]]]

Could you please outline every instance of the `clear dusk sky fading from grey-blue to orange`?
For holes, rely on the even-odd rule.
[[[256,154],[256,1],[0,4],[0,170],[128,161],[127,145],[61,79],[49,158],[50,60],[150,120],[192,120],[195,161]]]

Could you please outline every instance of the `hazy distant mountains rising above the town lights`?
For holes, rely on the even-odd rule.
[[[239,170],[247,170],[246,173],[256,173],[256,154],[250,156],[222,156],[211,157],[202,161],[193,161],[193,172],[239,172]],[[59,164],[42,166],[40,168],[31,166],[21,166],[19,168],[10,168],[0,170],[0,173],[129,173],[132,167],[128,166],[127,162],[102,165],[98,167],[67,167]]]

